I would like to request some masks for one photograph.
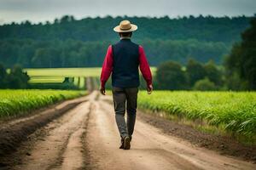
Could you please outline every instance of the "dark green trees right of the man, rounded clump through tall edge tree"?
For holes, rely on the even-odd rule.
[[[224,65],[213,61],[203,64],[189,59],[183,67],[175,61],[158,66],[155,86],[171,90],[256,90],[256,18],[251,26],[241,33],[241,42],[236,42]]]

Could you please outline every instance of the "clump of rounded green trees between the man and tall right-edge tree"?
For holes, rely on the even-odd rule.
[[[166,90],[222,90],[224,72],[211,60],[207,64],[189,59],[183,67],[175,61],[158,66],[154,86]]]

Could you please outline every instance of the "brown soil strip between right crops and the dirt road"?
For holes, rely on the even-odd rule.
[[[209,150],[217,150],[221,155],[236,156],[242,160],[256,163],[256,145],[241,144],[230,137],[204,133],[189,125],[172,122],[159,116],[145,114],[141,111],[138,113],[138,118],[143,122],[160,128],[163,133],[185,139],[196,146]]]

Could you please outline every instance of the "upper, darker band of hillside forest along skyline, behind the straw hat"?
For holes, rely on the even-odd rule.
[[[32,24],[26,20],[22,23],[11,23],[0,26],[0,39],[30,38],[39,41],[75,39],[80,41],[116,41],[113,27],[121,20],[131,20],[137,24],[139,31],[135,32],[135,39],[186,40],[197,39],[209,42],[236,42],[239,34],[249,26],[252,17],[213,17],[199,15],[197,17],[168,16],[160,18],[106,16],[75,20],[73,16],[65,15],[55,19],[53,23]]]

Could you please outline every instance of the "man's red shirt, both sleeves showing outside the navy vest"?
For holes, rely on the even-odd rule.
[[[139,55],[140,71],[142,72],[143,77],[147,82],[147,85],[149,86],[152,84],[152,74],[151,74],[151,71],[148,65],[148,60],[146,58],[146,55],[142,46],[139,46],[139,54],[140,54]],[[108,51],[102,65],[102,74],[101,74],[102,88],[105,87],[105,83],[108,81],[108,77],[110,77],[112,71],[113,71],[113,53],[112,53],[112,46],[110,45],[108,47]]]

